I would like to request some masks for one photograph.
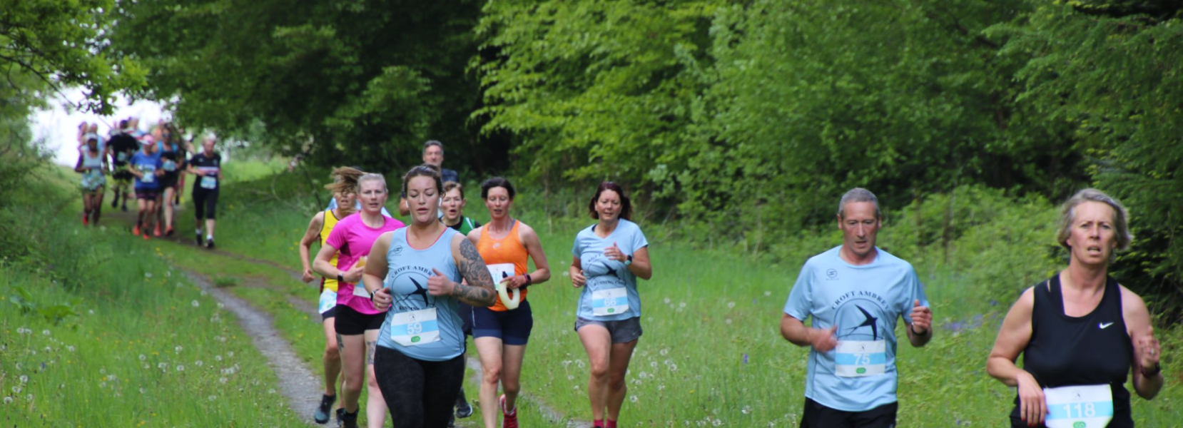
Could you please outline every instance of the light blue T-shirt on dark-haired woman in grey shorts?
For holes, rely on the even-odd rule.
[[[615,244],[626,255],[636,253],[649,242],[636,223],[620,219],[608,238],[596,236],[595,225],[575,235],[571,255],[580,258],[588,283],[580,294],[580,318],[621,320],[641,316],[641,296],[636,292],[636,275],[623,261],[603,257],[603,249]]]

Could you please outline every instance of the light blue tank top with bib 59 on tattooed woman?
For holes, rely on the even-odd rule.
[[[388,270],[383,286],[390,288],[394,301],[382,322],[377,345],[421,361],[455,358],[464,354],[457,300],[427,293],[427,279],[435,274],[432,271],[435,268],[460,283],[460,268],[452,258],[452,236],[458,232],[445,227],[431,247],[415,249],[407,244],[408,229],[393,232],[386,253]]]

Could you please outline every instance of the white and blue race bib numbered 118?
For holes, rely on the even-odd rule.
[[[1048,428],[1104,428],[1113,419],[1108,384],[1043,388]]]

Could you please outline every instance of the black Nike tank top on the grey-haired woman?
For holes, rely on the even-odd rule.
[[[1101,301],[1079,318],[1064,313],[1059,274],[1035,286],[1032,339],[1023,349],[1023,370],[1040,387],[1108,383],[1113,394],[1113,420],[1108,428],[1132,428],[1130,391],[1125,389],[1132,357],[1133,344],[1121,314],[1121,287],[1116,279],[1106,278]],[[1010,421],[1013,427],[1027,427],[1019,417],[1017,396]]]

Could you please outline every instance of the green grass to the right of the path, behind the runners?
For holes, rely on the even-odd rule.
[[[266,196],[234,192],[293,181],[298,180],[269,177],[227,186],[224,197],[234,208],[227,207],[219,235],[244,238],[220,239],[219,245],[298,268],[295,242],[312,210],[291,208],[312,205],[310,196],[292,194],[286,201],[269,201]],[[285,186],[291,184],[272,184]],[[529,189],[519,190],[519,219],[539,231],[555,272],[549,283],[530,294],[536,323],[526,352],[523,389],[531,395],[530,400],[543,400],[570,417],[587,420],[590,419],[586,397],[587,358],[571,330],[578,290],[570,286],[563,272],[571,260],[569,248],[575,233],[590,220],[537,214],[531,207],[538,201],[530,200]],[[479,199],[470,197],[467,214],[487,219]],[[800,419],[807,350],[783,341],[777,326],[803,260],[771,264],[725,251],[661,241],[657,234],[649,239],[654,279],[640,284],[645,336],[631,365],[629,401],[622,421],[653,427],[795,426]],[[820,242],[815,244],[819,246],[815,252],[821,252],[839,240],[839,235],[830,233],[814,236],[810,242]],[[1010,301],[991,301],[988,287],[975,283],[981,278],[975,272],[955,272],[937,261],[917,264],[917,270],[926,283],[938,336],[922,349],[900,346],[900,426],[1002,423],[1014,395],[985,375],[984,362]],[[302,297],[313,298],[310,292],[302,292]],[[312,336],[313,342],[318,341],[313,332],[305,338]],[[1181,339],[1178,329],[1162,332],[1161,338],[1168,352],[1177,349]],[[1176,369],[1168,361],[1164,370],[1171,374]],[[470,397],[476,396],[471,385],[468,391]],[[1181,397],[1183,391],[1172,378],[1155,401],[1136,398],[1134,417],[1143,426],[1166,426],[1179,419],[1176,404]]]

